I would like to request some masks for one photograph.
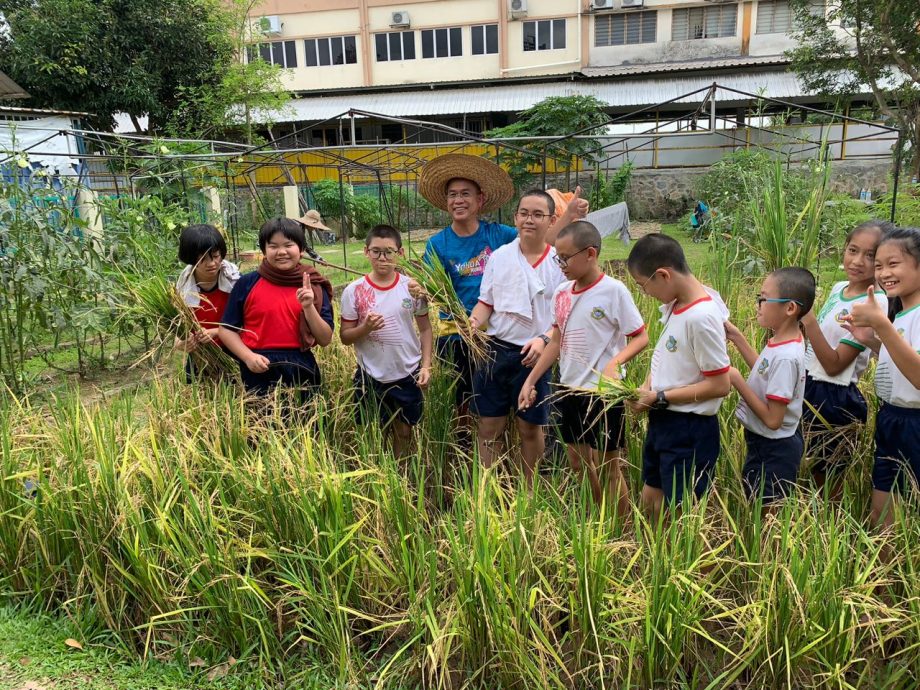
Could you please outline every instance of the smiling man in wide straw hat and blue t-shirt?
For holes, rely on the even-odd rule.
[[[489,257],[499,247],[513,242],[517,230],[510,225],[480,219],[514,196],[514,183],[492,161],[463,153],[450,153],[428,162],[419,176],[419,192],[432,205],[447,211],[451,223],[428,240],[425,256],[437,256],[450,276],[460,301],[470,313],[479,299],[482,275]],[[580,199],[581,189],[554,224],[546,241],[555,242],[558,229],[588,212]],[[457,369],[457,407],[466,416],[473,390],[473,364],[465,343],[457,334],[449,314],[441,314],[438,354]]]

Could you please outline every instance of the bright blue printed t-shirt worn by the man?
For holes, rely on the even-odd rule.
[[[449,225],[428,240],[425,246],[426,260],[434,253],[441,260],[450,276],[457,297],[469,314],[479,300],[482,274],[492,252],[513,242],[517,230],[509,225],[479,221],[479,229],[468,237],[460,237]],[[445,318],[445,314],[441,318]]]

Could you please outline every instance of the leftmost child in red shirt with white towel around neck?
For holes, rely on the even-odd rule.
[[[217,336],[220,318],[240,277],[239,269],[226,257],[227,243],[213,225],[189,225],[179,235],[179,259],[186,267],[176,289],[201,325],[184,340],[176,339],[176,348],[183,352],[221,345]],[[191,379],[191,358],[186,361],[186,372]]]

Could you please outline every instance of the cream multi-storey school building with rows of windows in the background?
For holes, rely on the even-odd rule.
[[[296,97],[273,128],[298,132],[285,147],[439,141],[373,117],[343,125],[351,109],[479,133],[547,96],[593,95],[617,115],[714,81],[823,105],[788,71],[789,0],[265,0],[251,16],[243,59],[287,68]],[[720,108],[743,120],[751,100]]]

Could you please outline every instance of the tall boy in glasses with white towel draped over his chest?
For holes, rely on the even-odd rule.
[[[492,465],[508,413],[515,412],[528,484],[544,451],[549,372],[536,381],[536,404],[518,409],[517,402],[531,367],[550,341],[553,292],[565,281],[554,260],[556,251],[546,241],[555,211],[555,201],[543,190],[524,192],[514,216],[518,236],[492,253],[470,315],[473,326],[485,326],[489,335],[489,358],[473,374],[470,405],[478,416],[479,457],[486,467]]]

